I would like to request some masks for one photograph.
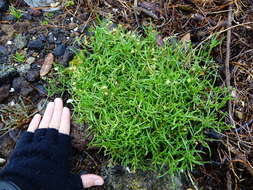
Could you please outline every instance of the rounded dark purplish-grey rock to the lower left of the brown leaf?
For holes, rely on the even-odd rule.
[[[20,92],[22,96],[27,96],[29,93],[33,91],[33,88],[30,86],[29,82],[27,82],[23,77],[17,77],[12,81],[12,87]]]

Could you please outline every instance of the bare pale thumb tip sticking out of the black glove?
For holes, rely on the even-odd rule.
[[[84,174],[81,175],[82,183],[84,188],[89,188],[93,186],[100,186],[104,184],[104,180],[101,176],[95,174]]]

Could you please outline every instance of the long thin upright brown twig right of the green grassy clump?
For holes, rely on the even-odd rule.
[[[228,27],[231,27],[232,25],[232,4],[229,5],[229,12],[228,12]],[[231,76],[230,76],[230,70],[229,70],[229,62],[230,62],[230,45],[231,45],[231,29],[227,31],[227,44],[226,44],[226,60],[225,60],[225,75],[226,75],[226,86],[229,90],[231,90]],[[229,119],[230,123],[235,126],[235,121],[233,119],[233,111],[232,111],[232,102],[231,100],[228,101],[228,113],[229,113]]]

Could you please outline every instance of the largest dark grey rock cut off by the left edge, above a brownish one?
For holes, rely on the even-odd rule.
[[[13,66],[0,65],[0,86],[8,84],[18,76],[17,70]]]

